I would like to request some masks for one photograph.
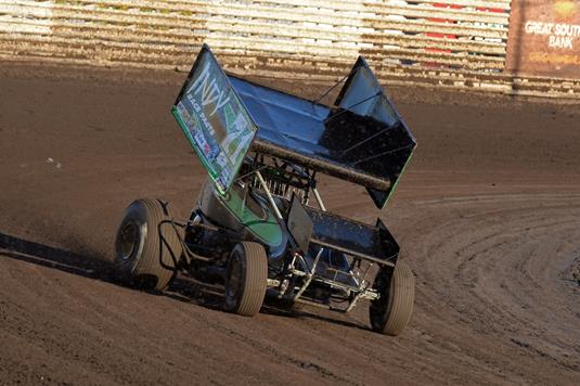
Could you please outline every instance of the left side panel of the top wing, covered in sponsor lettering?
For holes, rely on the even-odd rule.
[[[225,193],[258,128],[205,44],[172,113],[209,177]]]

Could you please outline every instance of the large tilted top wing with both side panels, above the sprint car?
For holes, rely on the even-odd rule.
[[[362,56],[330,107],[228,76],[204,44],[172,113],[222,193],[252,147],[361,184],[383,208],[416,146]]]

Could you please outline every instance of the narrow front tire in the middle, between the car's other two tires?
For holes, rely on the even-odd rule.
[[[224,308],[253,317],[260,311],[268,287],[268,258],[258,243],[237,244],[228,260]]]

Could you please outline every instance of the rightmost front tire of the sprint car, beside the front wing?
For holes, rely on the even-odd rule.
[[[382,268],[376,274],[373,287],[381,297],[371,301],[369,313],[374,331],[397,336],[407,326],[413,313],[415,301],[415,276],[404,262],[397,262],[395,269]]]

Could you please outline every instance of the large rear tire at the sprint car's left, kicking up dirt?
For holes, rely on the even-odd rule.
[[[115,241],[115,265],[130,284],[158,291],[169,286],[182,253],[180,228],[171,219],[158,200],[134,201],[125,211]]]

